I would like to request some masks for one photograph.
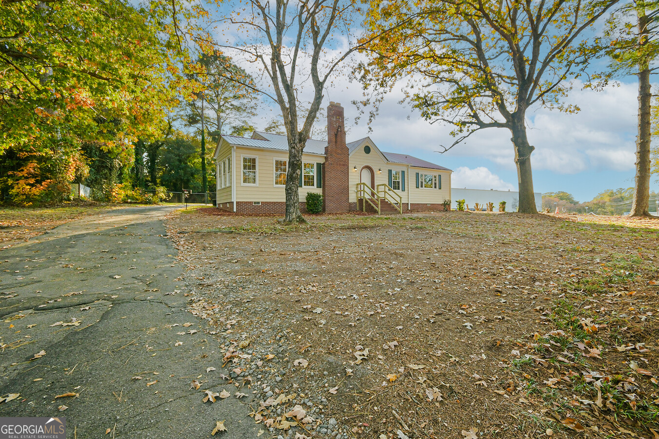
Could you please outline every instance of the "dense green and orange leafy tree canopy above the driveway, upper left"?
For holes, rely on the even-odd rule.
[[[88,141],[132,161],[123,148],[156,132],[172,102],[177,2],[0,0],[3,184],[68,183]]]

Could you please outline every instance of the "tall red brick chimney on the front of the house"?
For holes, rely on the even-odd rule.
[[[329,102],[328,146],[325,147],[323,200],[325,212],[349,211],[348,147],[345,145],[343,107]]]

